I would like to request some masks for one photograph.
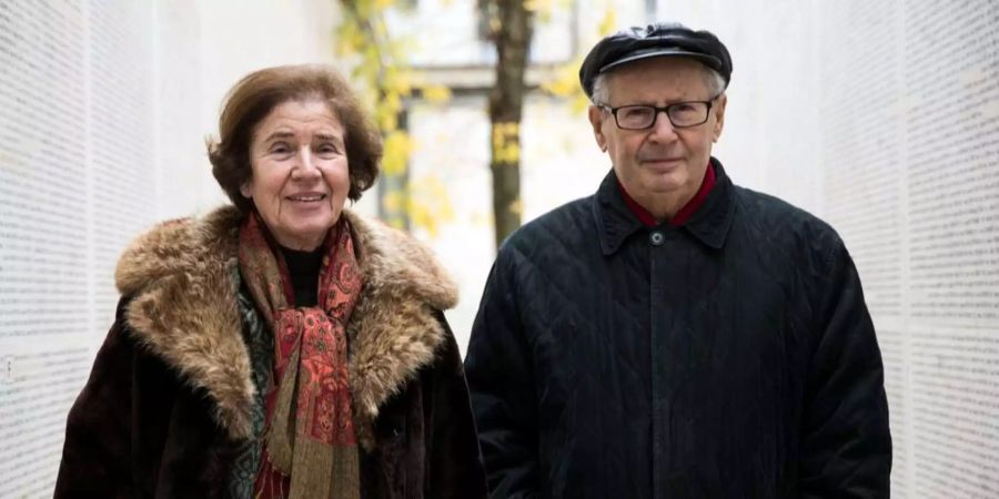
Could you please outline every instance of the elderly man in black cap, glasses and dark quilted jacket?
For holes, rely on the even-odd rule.
[[[860,279],[831,227],[712,157],[730,74],[667,23],[583,62],[613,170],[503,244],[465,361],[493,497],[888,497]]]

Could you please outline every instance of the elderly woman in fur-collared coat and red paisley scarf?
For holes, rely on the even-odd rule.
[[[315,65],[254,72],[209,144],[233,202],[118,264],[57,498],[475,498],[485,478],[431,253],[344,210],[379,134]]]

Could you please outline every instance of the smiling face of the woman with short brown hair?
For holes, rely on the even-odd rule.
[[[344,130],[319,99],[286,101],[253,131],[253,175],[240,189],[282,246],[312,251],[340,220],[350,190]]]

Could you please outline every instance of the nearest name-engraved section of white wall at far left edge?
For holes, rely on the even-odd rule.
[[[113,316],[114,259],[153,216],[151,19],[0,3],[3,498],[51,495],[67,411]]]

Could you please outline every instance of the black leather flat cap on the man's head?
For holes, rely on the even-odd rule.
[[[662,57],[696,59],[717,71],[725,79],[725,86],[731,79],[731,58],[718,37],[677,22],[657,22],[618,31],[597,42],[583,60],[579,83],[592,98],[593,81],[598,74],[628,62]]]

